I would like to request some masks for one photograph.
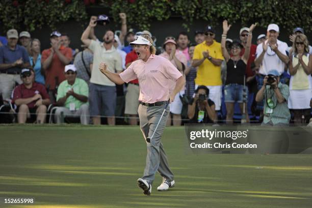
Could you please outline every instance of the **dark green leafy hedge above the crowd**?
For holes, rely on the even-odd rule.
[[[56,29],[69,18],[87,20],[86,7],[92,4],[110,8],[109,15],[114,19],[118,19],[118,13],[125,12],[128,26],[136,25],[142,30],[149,29],[155,19],[161,21],[179,16],[184,19],[186,29],[196,19],[204,19],[212,25],[227,19],[229,23],[241,22],[243,25],[258,22],[263,27],[274,22],[289,32],[295,27],[302,27],[307,33],[312,31],[310,0],[2,0],[0,21],[5,30],[22,27],[34,31],[45,24]]]

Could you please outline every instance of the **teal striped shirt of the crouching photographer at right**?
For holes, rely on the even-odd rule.
[[[289,87],[288,85],[278,83],[278,88],[282,96],[285,98],[285,101],[282,103],[278,103],[275,92],[273,89],[270,89],[270,86],[267,85],[267,93],[264,92],[264,119],[263,123],[273,123],[273,125],[278,123],[285,123],[288,124],[291,118],[291,114],[288,109],[288,97],[289,97]],[[272,97],[269,97],[273,100],[274,105],[276,105],[275,108],[273,108],[272,113],[266,113],[266,109],[268,109],[268,103],[267,103],[267,95],[273,95]]]

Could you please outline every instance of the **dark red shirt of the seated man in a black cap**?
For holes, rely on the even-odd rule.
[[[18,85],[13,91],[13,99],[12,103],[15,102],[16,99],[19,98],[30,98],[35,96],[36,94],[40,94],[42,99],[48,99],[49,95],[46,92],[46,89],[43,85],[39,83],[33,83],[32,88],[27,89],[24,84]],[[34,100],[27,104],[28,108],[34,108],[37,100]]]

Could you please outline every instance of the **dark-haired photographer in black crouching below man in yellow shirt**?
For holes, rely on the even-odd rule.
[[[214,101],[209,99],[209,89],[201,85],[195,93],[188,108],[190,123],[214,123],[217,119],[216,106]]]

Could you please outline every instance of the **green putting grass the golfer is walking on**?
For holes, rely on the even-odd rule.
[[[157,174],[144,196],[139,127],[2,125],[0,197],[35,198],[34,206],[9,206],[20,208],[311,207],[310,154],[196,155],[183,127],[167,127],[162,142],[176,187],[157,192]]]

